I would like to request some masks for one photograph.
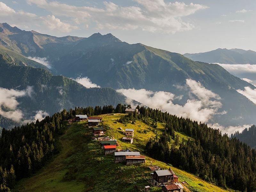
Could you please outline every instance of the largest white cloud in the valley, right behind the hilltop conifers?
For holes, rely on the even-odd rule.
[[[177,116],[189,117],[196,121],[207,122],[222,107],[220,96],[205,89],[202,84],[191,79],[186,80],[191,98],[184,105],[174,104],[179,99],[171,92],[148,91],[145,89],[119,89],[126,97],[134,99],[151,108],[159,108]]]

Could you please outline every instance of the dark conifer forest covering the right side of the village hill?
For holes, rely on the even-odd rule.
[[[149,156],[191,172],[222,188],[256,191],[255,149],[237,138],[229,138],[227,134],[222,134],[219,129],[212,129],[207,124],[158,109],[137,108],[140,115],[130,113],[119,121],[134,123],[140,120],[152,127],[157,127],[156,122],[165,124],[163,134],[156,135],[147,142],[146,153]],[[179,142],[175,131],[182,132],[191,139]]]

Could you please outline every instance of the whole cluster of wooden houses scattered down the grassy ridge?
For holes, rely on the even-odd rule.
[[[127,108],[125,112],[130,113],[138,111],[136,109]],[[99,127],[102,117],[87,117],[86,115],[76,115],[75,121],[88,120],[89,128],[92,128],[92,135],[98,137],[104,135],[104,129]],[[97,127],[98,126],[98,127]],[[133,142],[134,130],[125,129],[125,137],[122,138],[124,142]],[[117,140],[110,139],[109,137],[97,138],[100,140],[101,148],[104,150],[104,155],[115,155],[115,163],[129,164],[141,164],[145,163],[145,156],[140,155],[140,152],[132,152],[130,150],[118,151]],[[148,182],[154,187],[162,187],[162,192],[183,192],[183,186],[178,182],[178,177],[172,171],[171,168],[167,170],[154,170],[150,173],[150,179]],[[148,191],[150,186],[145,187],[145,191]]]

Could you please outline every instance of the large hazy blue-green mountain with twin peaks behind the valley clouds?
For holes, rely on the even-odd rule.
[[[195,62],[181,54],[139,43],[128,44],[112,34],[95,33],[88,38],[54,37],[35,31],[21,31],[7,24],[2,24],[2,28],[3,36],[11,39],[10,42],[31,48],[28,52],[20,51],[22,54],[47,58],[54,74],[72,78],[87,76],[101,87],[114,89],[172,92],[175,96],[183,95],[181,100],[176,101],[183,106],[190,99],[186,80],[192,79],[220,96],[222,107],[210,123],[224,126],[255,123],[256,105],[236,91],[255,87],[217,64]],[[32,34],[29,41],[25,41],[22,35],[27,33]],[[24,41],[19,43],[21,39]]]

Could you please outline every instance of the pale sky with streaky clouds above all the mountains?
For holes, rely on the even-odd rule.
[[[53,36],[112,33],[171,52],[256,51],[255,0],[0,0],[0,22]]]

